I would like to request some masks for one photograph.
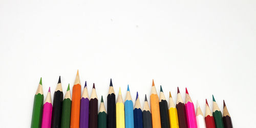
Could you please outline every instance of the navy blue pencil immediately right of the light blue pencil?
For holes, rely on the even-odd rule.
[[[136,101],[135,101],[133,112],[134,112],[134,128],[143,128],[143,117],[142,117],[142,111],[141,111],[138,92],[136,95]]]

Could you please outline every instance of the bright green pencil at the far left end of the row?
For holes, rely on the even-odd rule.
[[[37,87],[35,96],[34,96],[31,128],[41,127],[42,104],[43,103],[44,103],[44,94],[42,92],[42,78],[41,78],[40,82],[39,82],[39,85]]]

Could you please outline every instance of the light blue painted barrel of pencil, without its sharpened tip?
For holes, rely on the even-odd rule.
[[[125,128],[134,128],[133,101],[124,102]]]

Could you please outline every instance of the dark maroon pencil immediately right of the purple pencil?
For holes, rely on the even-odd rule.
[[[89,101],[89,127],[98,127],[98,98],[94,83],[91,98]]]

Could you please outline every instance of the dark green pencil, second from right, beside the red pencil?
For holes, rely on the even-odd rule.
[[[212,95],[212,101],[212,115],[214,116],[215,126],[216,128],[224,128],[221,110],[215,101],[214,95]]]

